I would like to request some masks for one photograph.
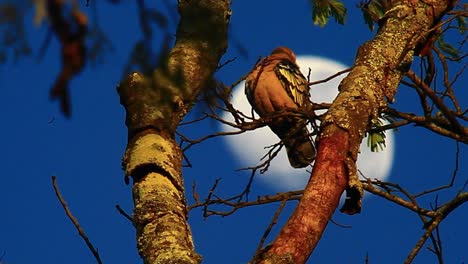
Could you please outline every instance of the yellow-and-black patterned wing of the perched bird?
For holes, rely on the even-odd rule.
[[[283,60],[276,66],[275,73],[288,95],[299,107],[310,102],[308,81],[296,64]]]

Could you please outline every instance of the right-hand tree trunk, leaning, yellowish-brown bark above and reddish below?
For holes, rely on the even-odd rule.
[[[356,159],[360,142],[379,107],[393,100],[411,65],[416,45],[454,1],[394,1],[375,38],[362,45],[340,93],[322,122],[318,155],[304,196],[260,263],[305,263],[338,206],[345,188],[360,210]]]

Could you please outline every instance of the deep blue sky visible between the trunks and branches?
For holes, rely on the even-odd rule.
[[[72,119],[66,120],[48,92],[59,71],[59,47],[52,41],[44,59],[22,59],[0,66],[0,116],[3,138],[0,154],[0,256],[4,263],[93,263],[93,257],[58,203],[51,175],[57,176],[62,195],[87,235],[98,247],[104,263],[141,263],[132,225],[115,210],[121,205],[131,212],[131,186],[123,181],[121,157],[127,141],[125,112],[119,104],[116,85],[122,77],[129,50],[141,38],[134,4],[127,1],[108,5],[97,1],[100,23],[112,40],[114,52],[105,63],[87,67],[71,84]],[[354,4],[348,5],[346,26],[331,22],[314,26],[308,1],[233,1],[230,47],[223,61],[237,60],[217,73],[230,84],[251,69],[259,56],[286,45],[296,54],[317,55],[352,65],[357,47],[373,36]],[[85,9],[86,10],[86,9]],[[89,11],[89,10],[88,10]],[[32,26],[32,12],[25,16],[29,42],[35,54],[45,37],[45,27]],[[248,50],[239,55],[235,43]],[[89,65],[88,65],[89,66]],[[466,76],[457,95],[466,107]],[[419,111],[413,91],[401,88],[395,107]],[[187,119],[203,109],[196,108]],[[53,120],[51,122],[51,120]],[[191,137],[219,130],[214,122],[184,127]],[[390,180],[419,192],[450,180],[455,164],[455,142],[423,128],[408,126],[395,134],[395,160]],[[261,146],[259,146],[261,147]],[[467,180],[467,148],[460,146],[460,167],[456,187],[443,191],[439,199],[454,195]],[[245,166],[229,152],[222,139],[214,139],[186,153],[193,168],[185,169],[187,191],[195,180],[205,196],[213,181],[223,177],[220,194],[235,194],[248,175],[234,171]],[[268,186],[255,182],[251,197],[273,194]],[[465,190],[466,191],[466,190]],[[191,199],[189,198],[189,203]],[[420,200],[428,206],[434,196]],[[293,210],[287,206],[276,234]],[[247,208],[220,218],[203,219],[199,210],[190,213],[197,251],[204,263],[246,263],[268,226],[278,205]],[[312,263],[401,263],[420,235],[417,215],[380,198],[364,203],[360,215],[336,213],[333,219],[351,225],[344,229],[329,224],[310,258]],[[468,210],[464,205],[441,225],[447,263],[468,261],[465,238]],[[435,263],[422,249],[415,263]]]

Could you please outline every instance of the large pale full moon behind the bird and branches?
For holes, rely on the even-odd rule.
[[[297,63],[304,76],[308,76],[310,69],[310,81],[323,80],[347,66],[322,57],[298,56]],[[330,103],[338,94],[338,85],[346,75],[343,74],[328,82],[311,87],[311,101],[314,103]],[[244,83],[234,88],[232,101],[234,108],[250,115],[252,107],[244,94]],[[229,113],[224,114],[223,119],[232,120]],[[222,125],[223,131],[232,131],[232,128]],[[240,135],[223,137],[228,149],[235,157],[238,157],[241,167],[254,166],[260,163],[260,159],[267,153],[265,147],[279,142],[278,137],[268,127],[245,132]],[[367,146],[367,138],[361,144],[357,165],[359,171],[367,178],[385,180],[390,174],[393,161],[393,132],[386,132],[386,147],[383,151],[371,152]],[[264,174],[257,175],[257,179],[276,191],[291,191],[303,189],[309,179],[311,167],[294,169],[289,165],[286,151],[281,149],[279,155],[271,162]]]

